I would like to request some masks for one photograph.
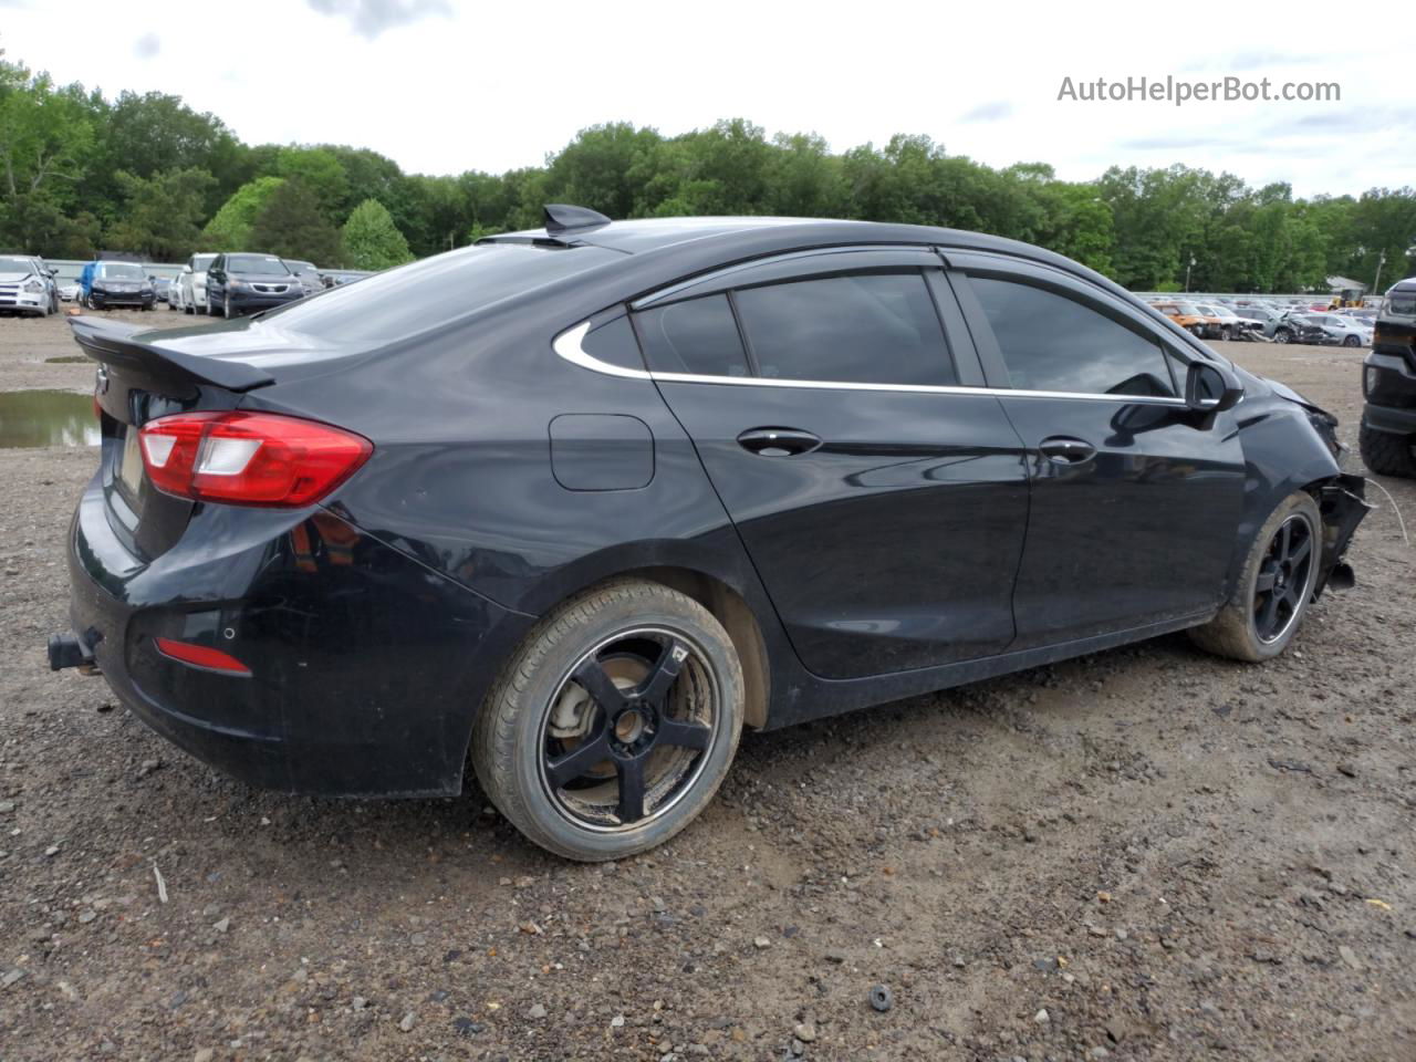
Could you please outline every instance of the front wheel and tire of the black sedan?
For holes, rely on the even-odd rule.
[[[1189,630],[1201,649],[1257,663],[1283,653],[1313,600],[1323,562],[1323,517],[1307,491],[1279,503],[1259,528],[1233,596]]]

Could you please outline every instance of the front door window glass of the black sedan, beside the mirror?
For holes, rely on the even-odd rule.
[[[1076,299],[970,278],[1012,387],[1082,395],[1175,396],[1160,344]]]

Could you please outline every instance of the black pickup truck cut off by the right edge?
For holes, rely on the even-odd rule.
[[[1416,477],[1416,278],[1382,300],[1362,365],[1362,460],[1382,476]]]

